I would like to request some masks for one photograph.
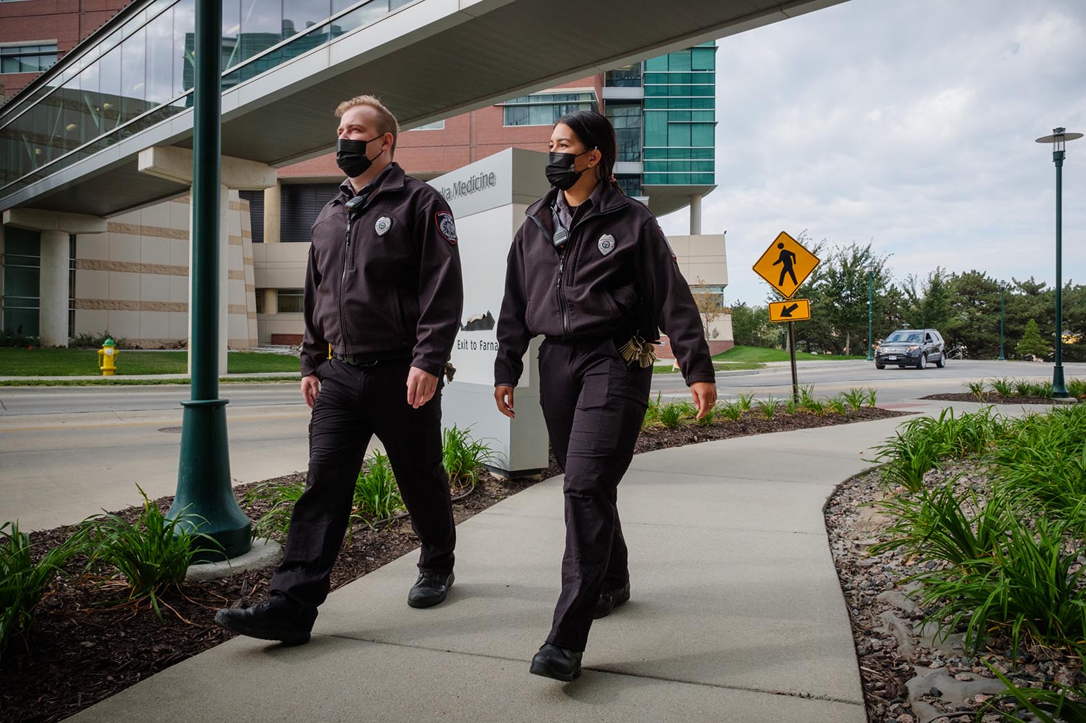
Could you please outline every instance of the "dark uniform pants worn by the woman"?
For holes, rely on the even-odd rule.
[[[561,594],[547,643],[584,650],[601,591],[630,576],[617,492],[633,458],[653,370],[628,366],[610,339],[547,339],[539,362],[540,404],[566,472]]]

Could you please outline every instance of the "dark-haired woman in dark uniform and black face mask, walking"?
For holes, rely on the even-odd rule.
[[[513,241],[497,324],[494,399],[514,416],[514,388],[532,337],[551,448],[566,472],[561,595],[531,672],[571,681],[593,618],[630,599],[616,493],[648,405],[652,342],[671,341],[697,416],[717,388],[702,319],[656,218],[619,189],[615,129],[579,111],[551,135],[552,189]]]

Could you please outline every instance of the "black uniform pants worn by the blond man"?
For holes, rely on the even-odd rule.
[[[407,404],[409,359],[356,367],[331,359],[317,369],[320,393],[310,419],[310,470],[294,505],[270,598],[312,623],[328,596],[343,544],[355,480],[374,434],[384,445],[412,528],[420,570],[453,570],[456,529],[441,464],[441,389],[418,409]]]

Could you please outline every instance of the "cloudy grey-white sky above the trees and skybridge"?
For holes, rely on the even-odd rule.
[[[1086,132],[1086,2],[849,0],[723,38],[717,189],[729,302],[763,303],[750,266],[776,233],[1052,284],[1057,126]],[[1063,278],[1086,282],[1086,138],[1068,143]],[[661,219],[689,232],[689,212]],[[801,295],[801,294],[800,294]]]

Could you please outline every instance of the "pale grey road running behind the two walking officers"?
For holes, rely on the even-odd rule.
[[[853,386],[877,390],[879,404],[898,404],[938,392],[965,391],[964,382],[993,377],[1051,379],[1051,365],[1022,362],[950,362],[946,368],[885,369],[867,362],[806,362],[799,383],[818,396]],[[1086,364],[1066,365],[1086,377]],[[785,398],[787,365],[719,378],[721,398],[741,393]],[[657,375],[654,394],[686,395],[679,375]],[[188,386],[0,388],[0,522],[24,530],[77,522],[101,509],[172,494],[177,482],[180,401]],[[230,470],[252,482],[304,470],[310,409],[296,382],[227,385]]]

